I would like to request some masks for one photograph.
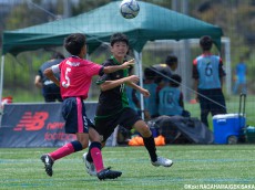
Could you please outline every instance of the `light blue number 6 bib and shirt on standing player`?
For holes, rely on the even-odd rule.
[[[193,62],[193,78],[198,80],[200,89],[221,88],[221,77],[225,75],[222,59],[212,54],[202,54]]]

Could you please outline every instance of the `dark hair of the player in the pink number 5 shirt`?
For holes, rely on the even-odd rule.
[[[64,48],[72,55],[79,55],[84,45],[85,35],[82,33],[71,34],[64,40]]]

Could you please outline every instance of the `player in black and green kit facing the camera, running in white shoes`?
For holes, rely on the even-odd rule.
[[[112,56],[103,65],[122,65],[129,51],[129,39],[122,33],[115,33],[111,36]],[[171,167],[173,161],[156,155],[154,137],[146,123],[128,104],[125,85],[129,85],[149,96],[150,93],[136,85],[139,77],[129,76],[129,71],[118,71],[111,74],[103,74],[98,80],[101,93],[95,115],[95,130],[103,137],[102,145],[111,136],[118,125],[131,130],[134,128],[143,137],[144,146],[151,157],[151,163],[155,167]],[[91,152],[84,154],[83,159],[90,175],[95,175]]]

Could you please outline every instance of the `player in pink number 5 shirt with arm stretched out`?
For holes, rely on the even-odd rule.
[[[86,45],[85,35],[81,33],[69,35],[64,41],[64,48],[71,56],[60,64],[45,70],[44,75],[60,86],[63,98],[62,115],[65,119],[65,133],[76,134],[76,140],[41,156],[45,172],[52,176],[52,166],[55,160],[85,149],[89,146],[90,135],[92,142],[89,149],[95,165],[98,178],[100,180],[118,178],[122,175],[121,171],[110,170],[109,168],[105,169],[103,166],[100,136],[91,127],[93,124],[91,119],[86,117],[83,99],[88,97],[91,81],[94,75],[125,70],[130,65],[133,65],[134,61],[125,62],[122,65],[102,66],[83,60],[86,54]],[[61,73],[60,81],[54,76],[54,73]]]

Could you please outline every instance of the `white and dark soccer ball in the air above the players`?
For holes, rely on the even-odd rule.
[[[123,0],[120,6],[120,12],[125,19],[133,19],[139,14],[140,7],[136,0]]]

